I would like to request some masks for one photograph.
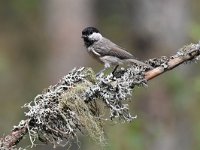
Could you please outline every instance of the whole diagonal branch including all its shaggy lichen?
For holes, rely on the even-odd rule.
[[[11,134],[0,138],[0,149],[12,149],[27,133],[32,146],[35,140],[61,145],[76,138],[76,132],[86,130],[99,143],[104,142],[101,126],[102,113],[98,100],[110,110],[110,118],[131,121],[128,104],[124,104],[135,86],[169,71],[180,64],[198,60],[200,43],[184,46],[167,58],[153,58],[146,61],[154,69],[131,66],[120,69],[116,74],[101,74],[96,78],[91,69],[74,69],[56,85],[50,86],[34,101],[25,105],[27,120],[15,126]]]

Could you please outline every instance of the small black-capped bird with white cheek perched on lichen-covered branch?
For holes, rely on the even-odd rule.
[[[82,31],[82,38],[89,54],[104,63],[104,69],[98,75],[111,66],[116,66],[112,72],[114,73],[117,67],[124,63],[138,64],[152,68],[150,65],[136,60],[132,54],[103,37],[99,30],[94,27],[85,28]]]

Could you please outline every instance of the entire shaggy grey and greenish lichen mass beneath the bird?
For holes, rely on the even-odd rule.
[[[32,146],[36,140],[57,145],[70,145],[77,133],[89,135],[105,145],[102,122],[108,118],[100,105],[110,112],[110,119],[132,121],[136,116],[129,112],[135,86],[146,86],[142,66],[119,69],[116,74],[95,76],[91,69],[73,69],[56,85],[45,89],[35,99],[25,104],[28,108],[28,133]],[[21,127],[21,124],[15,128]]]

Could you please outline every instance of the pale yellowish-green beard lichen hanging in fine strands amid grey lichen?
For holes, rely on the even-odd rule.
[[[70,109],[70,111],[74,113],[74,117],[77,121],[87,131],[88,135],[97,143],[105,145],[101,119],[99,118],[97,111],[95,111],[98,108],[95,107],[95,104],[93,104],[94,107],[90,107],[90,105],[83,101],[82,94],[88,86],[90,86],[88,83],[79,84],[63,94],[60,99],[59,109],[63,116],[66,116],[68,113],[67,110]],[[95,103],[95,101],[92,103]],[[94,110],[91,111],[91,109]],[[95,112],[96,114],[92,112]]]

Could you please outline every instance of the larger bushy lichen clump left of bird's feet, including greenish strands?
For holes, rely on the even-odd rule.
[[[94,83],[93,74],[91,69],[73,69],[56,85],[50,86],[37,95],[34,101],[24,105],[28,108],[25,115],[30,119],[28,132],[32,146],[36,139],[50,142],[54,147],[70,145],[70,140],[77,139],[77,132],[82,132],[87,127],[83,121],[84,117],[91,119],[90,123],[95,122],[95,118],[92,118],[88,111],[89,108],[83,105],[84,101],[80,95],[86,88],[84,86]],[[99,127],[98,123],[96,126]],[[98,127],[95,130],[100,133],[101,129],[97,129]],[[89,135],[97,138],[91,130],[87,130]],[[100,142],[102,139],[99,137]]]

